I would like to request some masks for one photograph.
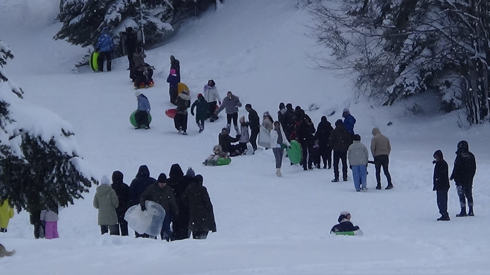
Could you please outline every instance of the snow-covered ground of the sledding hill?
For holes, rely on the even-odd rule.
[[[30,0],[29,0],[30,1]],[[0,0],[11,4],[13,0]],[[21,1],[19,1],[21,2]],[[36,7],[40,1],[24,1]],[[58,1],[49,1],[56,8]],[[377,108],[354,97],[347,80],[315,69],[308,58],[322,49],[306,37],[307,11],[296,0],[226,0],[215,11],[189,21],[167,45],[147,52],[156,67],[155,87],[142,92],[152,107],[150,130],[134,130],[128,122],[136,108],[127,59],[113,61],[113,71],[73,73],[85,49],[51,38],[59,29],[55,12],[33,18],[31,25],[0,26],[0,39],[16,58],[5,67],[25,91],[25,100],[42,105],[75,129],[82,154],[98,176],[121,170],[130,183],[139,165],[152,176],[168,173],[172,163],[194,167],[204,176],[215,207],[218,232],[206,241],[165,243],[133,237],[100,236],[93,193],[60,211],[60,238],[34,240],[28,215],[21,212],[0,234],[0,243],[16,249],[2,258],[5,274],[486,274],[490,269],[490,154],[488,125],[458,128],[457,114],[426,109],[405,115],[403,104]],[[1,5],[0,5],[1,6]],[[6,4],[4,6],[7,6]],[[7,9],[5,9],[7,10]],[[5,11],[4,10],[4,11]],[[27,9],[28,10],[28,9]],[[14,14],[13,11],[9,14]],[[16,17],[12,17],[16,18]],[[373,126],[391,138],[391,173],[395,188],[375,190],[369,167],[366,193],[353,183],[331,183],[331,170],[303,172],[284,165],[274,174],[270,151],[234,158],[228,166],[203,167],[225,122],[207,123],[202,134],[189,117],[189,136],[181,136],[164,115],[169,56],[180,60],[182,82],[193,99],[213,78],[221,96],[232,91],[259,114],[277,112],[279,102],[307,109],[315,124],[330,121],[349,107],[356,132],[369,144]],[[371,107],[371,105],[373,105]],[[241,115],[246,115],[243,108]],[[392,121],[392,126],[387,123]],[[233,132],[233,130],[232,130]],[[456,218],[459,202],[454,183],[449,191],[450,222],[439,217],[432,192],[432,154],[441,149],[450,167],[458,141],[466,139],[476,155],[475,217]],[[383,177],[383,183],[386,180]],[[95,187],[91,189],[95,191]],[[339,213],[348,210],[363,237],[329,235]]]

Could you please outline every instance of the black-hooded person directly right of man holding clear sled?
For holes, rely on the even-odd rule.
[[[188,239],[190,237],[189,209],[182,203],[181,197],[182,194],[184,194],[185,189],[190,185],[190,178],[184,177],[184,172],[182,172],[182,168],[180,168],[180,165],[177,163],[172,164],[169,176],[167,184],[172,188],[175,202],[179,209],[179,215],[172,219],[172,241]]]

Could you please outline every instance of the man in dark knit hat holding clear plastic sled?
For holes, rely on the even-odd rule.
[[[170,223],[172,219],[178,215],[177,204],[175,203],[175,197],[172,192],[172,188],[167,185],[167,175],[161,173],[158,176],[156,183],[151,184],[145,192],[141,195],[140,206],[141,210],[146,211],[146,201],[155,202],[165,209],[165,219],[162,224],[162,231],[160,238],[169,242],[172,238],[172,231],[170,230]],[[151,236],[156,239],[156,236]]]

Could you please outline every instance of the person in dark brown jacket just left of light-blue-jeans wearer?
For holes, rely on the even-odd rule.
[[[342,176],[343,181],[347,181],[347,150],[350,144],[352,144],[352,135],[345,129],[345,126],[341,119],[335,121],[335,129],[330,134],[329,142],[330,147],[334,151],[334,174],[335,178],[332,183],[339,182],[339,162],[342,160]]]

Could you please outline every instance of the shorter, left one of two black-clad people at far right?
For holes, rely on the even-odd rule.
[[[434,153],[434,188],[432,191],[436,191],[437,194],[437,206],[439,207],[439,213],[441,218],[438,221],[449,221],[449,213],[447,213],[447,191],[449,191],[449,167],[444,160],[441,150],[437,150]]]

